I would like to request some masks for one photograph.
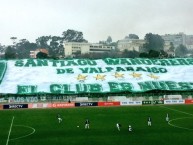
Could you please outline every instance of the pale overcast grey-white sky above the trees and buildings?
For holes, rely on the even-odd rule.
[[[0,0],[0,43],[83,32],[91,43],[147,33],[193,35],[193,0]]]

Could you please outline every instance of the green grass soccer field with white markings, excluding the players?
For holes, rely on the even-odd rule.
[[[61,123],[57,114],[63,119]],[[147,126],[148,116],[151,127]],[[89,130],[84,129],[87,118]],[[116,123],[122,125],[120,131]],[[128,132],[128,125],[133,132]],[[193,105],[0,111],[0,145],[65,144],[193,145]]]

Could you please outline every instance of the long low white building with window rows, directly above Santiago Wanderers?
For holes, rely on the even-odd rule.
[[[105,46],[98,43],[67,42],[64,44],[65,56],[73,56],[77,53],[104,53],[113,49],[114,46]]]

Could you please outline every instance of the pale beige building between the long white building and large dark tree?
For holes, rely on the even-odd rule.
[[[117,48],[120,51],[124,51],[126,49],[129,51],[135,50],[140,52],[143,44],[145,44],[145,40],[142,39],[123,39],[118,41]]]

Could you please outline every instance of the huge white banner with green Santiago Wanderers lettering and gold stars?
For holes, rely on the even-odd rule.
[[[192,72],[193,58],[0,60],[0,93],[189,91]]]

